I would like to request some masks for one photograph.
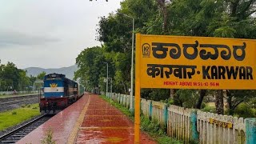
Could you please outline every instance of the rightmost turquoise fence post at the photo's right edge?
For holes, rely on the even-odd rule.
[[[256,142],[256,118],[246,118],[246,144]]]

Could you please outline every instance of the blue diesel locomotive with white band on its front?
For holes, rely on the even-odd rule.
[[[56,114],[82,97],[78,83],[66,78],[65,74],[47,74],[43,82],[39,104],[43,114]]]

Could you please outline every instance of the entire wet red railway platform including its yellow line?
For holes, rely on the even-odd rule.
[[[96,94],[86,93],[17,143],[42,143],[47,132],[56,143],[134,143],[134,123]],[[140,143],[156,143],[141,131]]]

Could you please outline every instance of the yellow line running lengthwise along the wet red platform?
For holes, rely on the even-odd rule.
[[[75,142],[77,134],[78,134],[79,127],[82,125],[82,121],[85,117],[85,114],[86,114],[87,108],[89,106],[89,103],[90,103],[90,94],[89,94],[89,98],[88,98],[88,101],[86,103],[86,106],[83,108],[81,114],[78,117],[78,121],[75,123],[74,128],[73,128],[69,138],[67,139],[67,143],[74,143]]]

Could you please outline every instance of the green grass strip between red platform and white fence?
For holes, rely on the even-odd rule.
[[[110,98],[107,98],[106,96],[101,96],[102,99],[106,100],[106,102],[110,103]],[[126,107],[123,107],[118,102],[111,101],[112,106],[115,106],[118,108],[118,110],[121,110],[123,114],[126,114],[132,121],[134,121],[134,116],[130,114],[130,111],[126,109]],[[157,121],[153,120],[150,121],[149,118],[141,116],[141,130],[146,131],[147,134],[150,134],[151,138],[154,138],[155,141],[161,144],[180,144],[182,142],[170,138],[166,135],[165,132],[166,126],[160,125]]]

